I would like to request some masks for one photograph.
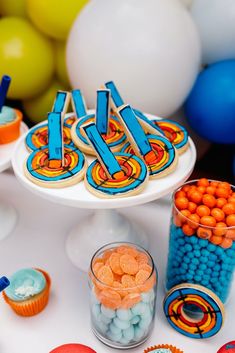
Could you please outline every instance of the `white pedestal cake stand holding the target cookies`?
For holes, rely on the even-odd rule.
[[[149,117],[151,118],[151,115]],[[94,252],[104,244],[129,241],[147,248],[148,238],[145,232],[138,224],[133,224],[114,209],[144,204],[172,192],[188,179],[196,161],[196,149],[193,141],[189,139],[189,148],[179,157],[178,166],[173,173],[164,178],[150,181],[146,189],[139,195],[100,199],[87,191],[83,182],[63,189],[47,189],[32,183],[25,177],[23,169],[28,155],[24,137],[22,137],[15,147],[12,166],[17,178],[27,189],[56,203],[95,209],[92,216],[87,217],[71,230],[66,242],[66,250],[70,260],[83,271],[88,269]]]

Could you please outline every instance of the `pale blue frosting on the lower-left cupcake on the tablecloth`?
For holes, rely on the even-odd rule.
[[[10,277],[10,286],[5,293],[14,301],[23,301],[41,293],[45,286],[46,279],[40,271],[23,269]]]

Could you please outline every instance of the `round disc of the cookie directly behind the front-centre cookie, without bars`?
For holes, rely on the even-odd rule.
[[[90,145],[82,126],[95,122],[95,114],[90,114],[75,122],[71,129],[71,136],[74,144],[78,146],[84,153],[95,155],[92,146]],[[111,115],[109,118],[109,132],[107,135],[102,135],[107,145],[112,152],[119,152],[126,141],[124,129],[119,120]]]

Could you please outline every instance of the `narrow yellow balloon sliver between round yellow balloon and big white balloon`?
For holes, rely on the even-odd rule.
[[[65,62],[65,48],[66,42],[55,42],[55,70],[58,79],[65,85],[65,87],[70,88],[70,82]]]

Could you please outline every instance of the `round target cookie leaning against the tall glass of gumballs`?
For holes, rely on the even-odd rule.
[[[195,319],[184,310],[193,306],[202,317]],[[216,335],[223,326],[224,306],[209,289],[184,283],[173,287],[165,297],[164,313],[169,324],[179,333],[191,338],[209,338]]]

